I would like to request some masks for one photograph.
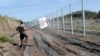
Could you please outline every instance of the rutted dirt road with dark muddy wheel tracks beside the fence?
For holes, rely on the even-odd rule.
[[[38,49],[45,56],[100,56],[100,46],[54,32],[33,30]]]

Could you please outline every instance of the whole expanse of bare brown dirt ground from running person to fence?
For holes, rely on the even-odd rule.
[[[100,45],[95,43],[96,39],[90,41],[80,36],[39,29],[27,33],[26,50],[17,49],[18,56],[100,56]],[[20,44],[19,38],[14,42]]]

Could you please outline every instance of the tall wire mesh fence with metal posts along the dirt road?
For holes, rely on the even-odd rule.
[[[91,2],[94,2],[93,4]],[[99,35],[100,20],[95,18],[87,18],[85,11],[93,11],[92,8],[98,6],[98,0],[77,0],[69,5],[55,10],[45,17],[49,24],[50,30],[69,32],[78,35]],[[95,11],[97,12],[97,11]]]

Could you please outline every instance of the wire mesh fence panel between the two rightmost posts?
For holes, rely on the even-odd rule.
[[[82,22],[82,3],[78,0],[71,4],[72,18],[73,18],[73,30],[75,34],[83,34],[83,22]]]

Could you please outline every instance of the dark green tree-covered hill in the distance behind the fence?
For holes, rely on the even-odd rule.
[[[70,15],[71,14],[64,15],[65,20],[70,21]],[[81,19],[82,18],[82,11],[72,12],[72,17],[74,19]],[[61,16],[59,16],[58,18],[59,18],[59,21],[62,21]],[[98,11],[98,13],[97,13],[97,12],[94,12],[94,11],[85,10],[85,18],[86,19],[100,19],[100,11]],[[56,18],[54,18],[54,19],[56,20]]]

